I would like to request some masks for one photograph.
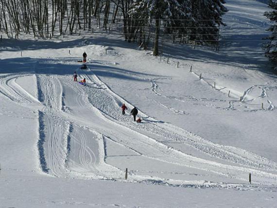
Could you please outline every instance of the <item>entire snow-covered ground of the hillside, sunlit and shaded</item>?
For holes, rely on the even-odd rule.
[[[4,38],[0,207],[277,207],[268,8],[226,1],[220,52],[167,43],[153,57],[109,34]]]

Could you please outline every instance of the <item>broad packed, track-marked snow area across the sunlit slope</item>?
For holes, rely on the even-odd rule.
[[[92,70],[78,73],[79,79],[87,79],[86,87],[64,75],[18,73],[0,77],[2,96],[37,111],[37,150],[43,172],[56,177],[122,180],[124,168],[134,165],[112,158],[116,153],[122,160],[132,157],[131,162],[143,161],[140,169],[129,169],[131,181],[178,186],[208,183],[228,188],[237,186],[230,185],[232,180],[247,182],[248,173],[252,173],[256,184],[276,185],[274,161],[212,143],[141,112],[143,122],[136,123],[129,116],[132,104],[115,94]],[[37,97],[30,92],[31,87],[20,86],[17,80],[24,77],[32,77]],[[155,91],[155,79],[151,82]],[[126,115],[121,115],[122,103],[128,107]],[[195,177],[188,180],[173,172],[147,171],[143,163],[161,163],[166,170],[178,167]]]

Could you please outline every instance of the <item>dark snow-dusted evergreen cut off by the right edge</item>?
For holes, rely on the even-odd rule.
[[[267,29],[272,34],[266,37],[269,41],[263,45],[263,49],[265,50],[265,57],[271,60],[274,68],[277,69],[277,0],[269,0],[269,7],[273,10],[265,12],[264,16],[274,21],[274,24]]]

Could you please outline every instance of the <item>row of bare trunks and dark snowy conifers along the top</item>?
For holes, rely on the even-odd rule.
[[[107,30],[122,24],[125,41],[158,55],[162,38],[173,42],[218,45],[225,0],[0,0],[0,29],[9,37]]]

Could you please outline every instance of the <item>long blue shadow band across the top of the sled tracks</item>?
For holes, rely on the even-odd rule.
[[[28,73],[28,74],[46,74],[46,75],[69,75],[72,76],[74,71],[85,73],[87,75],[96,74],[104,77],[117,79],[133,80],[148,82],[141,76],[153,76],[152,74],[135,72],[127,69],[121,69],[115,66],[87,64],[88,70],[82,70],[81,64],[77,62],[78,58],[11,58],[0,60],[1,73]],[[157,75],[155,75],[157,76]]]

